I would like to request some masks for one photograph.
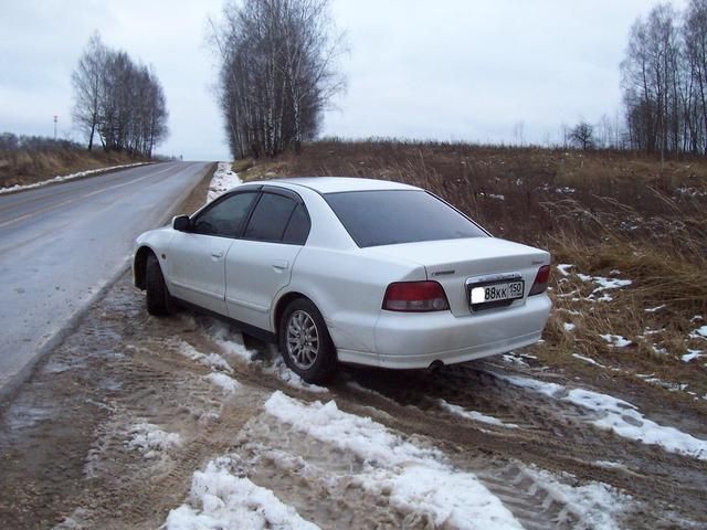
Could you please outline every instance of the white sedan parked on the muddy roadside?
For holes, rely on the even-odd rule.
[[[323,382],[337,361],[419,369],[537,342],[549,264],[420,188],[297,178],[239,186],[146,232],[133,273],[150,314],[225,317]]]

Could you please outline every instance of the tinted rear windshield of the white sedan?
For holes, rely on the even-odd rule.
[[[348,191],[324,197],[360,247],[486,236],[467,218],[422,190]]]

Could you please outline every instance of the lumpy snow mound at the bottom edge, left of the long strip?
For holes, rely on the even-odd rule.
[[[167,530],[317,530],[270,490],[240,477],[234,462],[221,457],[196,471],[188,502],[167,516]]]

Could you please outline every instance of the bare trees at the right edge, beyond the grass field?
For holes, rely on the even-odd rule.
[[[639,18],[621,73],[631,148],[707,155],[707,0]]]

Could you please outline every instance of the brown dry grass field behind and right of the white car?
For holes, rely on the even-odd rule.
[[[299,156],[234,168],[245,180],[409,182],[498,237],[549,250],[561,265],[551,282],[555,310],[545,342],[526,353],[598,381],[652,385],[707,410],[706,160],[662,165],[629,152],[320,141]]]

